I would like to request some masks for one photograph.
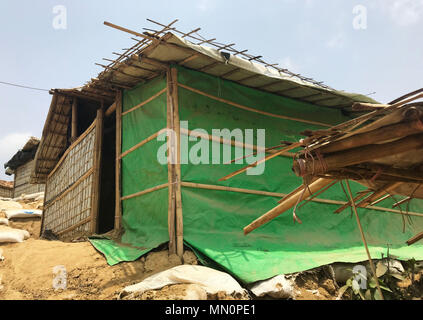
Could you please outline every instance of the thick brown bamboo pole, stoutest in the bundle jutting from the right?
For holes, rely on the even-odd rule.
[[[345,150],[321,159],[294,161],[293,170],[298,176],[321,174],[336,168],[343,168],[374,159],[404,152],[412,152],[423,147],[423,134],[408,136],[394,142],[366,145]]]

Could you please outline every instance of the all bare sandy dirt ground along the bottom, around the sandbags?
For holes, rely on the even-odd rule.
[[[22,243],[0,244],[0,300],[113,300],[122,289],[143,279],[182,264],[176,255],[167,250],[153,251],[134,261],[109,266],[106,259],[89,242],[62,242],[39,239],[39,219],[12,220],[10,226],[27,230],[31,238]],[[195,255],[186,251],[186,264],[198,264]],[[67,289],[54,290],[53,268],[64,266],[67,272]],[[423,275],[423,273],[422,273]],[[403,297],[421,297],[423,277],[416,275],[399,283]],[[140,300],[181,299],[189,285],[166,286],[135,296]],[[335,300],[339,287],[323,269],[304,272],[295,278],[296,300]],[[224,293],[207,297],[213,300],[245,299]]]

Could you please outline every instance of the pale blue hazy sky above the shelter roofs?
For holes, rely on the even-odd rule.
[[[179,19],[179,30],[201,27],[206,38],[382,103],[423,87],[423,0],[2,0],[0,82],[81,86],[101,71],[95,62],[134,44],[103,22],[142,32],[154,28],[147,18]],[[0,83],[0,179],[12,179],[3,163],[41,136],[50,101],[47,91]]]

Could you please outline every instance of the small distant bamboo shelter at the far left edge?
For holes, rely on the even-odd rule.
[[[23,194],[44,192],[44,184],[34,184],[30,181],[30,175],[34,166],[34,157],[40,140],[31,137],[16,154],[4,164],[6,174],[14,175],[13,197]]]

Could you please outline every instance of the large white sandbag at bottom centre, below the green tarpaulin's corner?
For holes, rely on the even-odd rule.
[[[142,294],[149,290],[183,283],[195,284],[208,294],[225,292],[227,295],[247,295],[247,291],[227,273],[203,266],[181,265],[152,275],[140,283],[128,286],[122,290],[119,296],[123,298],[135,293]]]

